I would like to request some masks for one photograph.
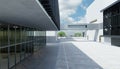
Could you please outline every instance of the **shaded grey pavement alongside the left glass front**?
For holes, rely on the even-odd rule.
[[[14,69],[14,68],[13,68]],[[71,42],[49,44],[16,69],[103,69]]]

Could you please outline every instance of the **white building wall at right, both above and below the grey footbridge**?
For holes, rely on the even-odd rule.
[[[117,0],[94,0],[94,2],[87,8],[87,13],[85,16],[87,23],[90,23],[95,19],[97,19],[95,23],[103,23],[103,12],[100,11],[115,1]],[[89,40],[99,41],[100,35],[103,35],[103,29],[87,31]]]

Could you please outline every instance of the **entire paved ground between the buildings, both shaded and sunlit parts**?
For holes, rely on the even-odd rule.
[[[110,47],[96,42],[63,41],[49,44],[18,64],[16,68],[120,69],[119,52],[119,47]]]

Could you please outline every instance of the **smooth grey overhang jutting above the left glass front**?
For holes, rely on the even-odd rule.
[[[0,0],[0,22],[40,30],[58,30],[38,0]]]

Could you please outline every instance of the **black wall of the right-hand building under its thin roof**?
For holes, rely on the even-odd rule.
[[[120,46],[120,1],[103,11],[103,33],[111,38],[111,44]]]

